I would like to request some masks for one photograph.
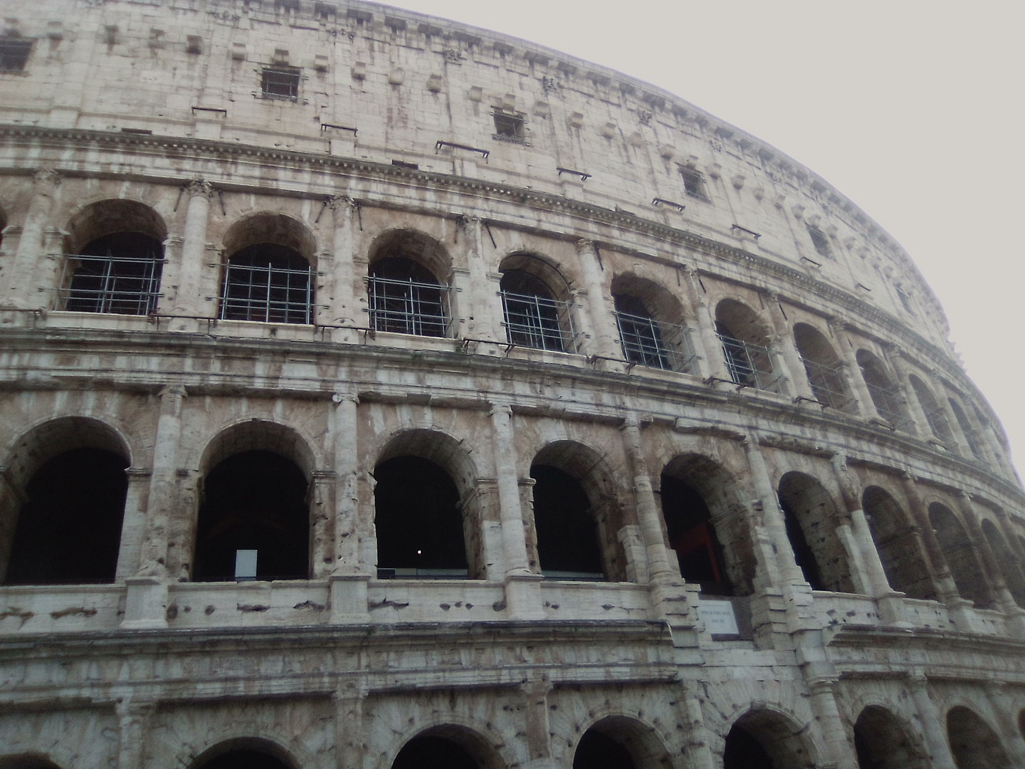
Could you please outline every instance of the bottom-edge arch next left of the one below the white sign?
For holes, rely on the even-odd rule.
[[[596,721],[580,737],[573,756],[573,769],[655,767],[672,767],[665,743],[653,727],[627,716],[606,716]]]

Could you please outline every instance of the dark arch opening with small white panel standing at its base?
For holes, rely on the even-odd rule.
[[[243,451],[221,460],[203,484],[193,579],[251,578],[239,551],[256,551],[256,579],[309,578],[306,492],[302,471],[274,451]],[[237,565],[243,571],[237,573]]]

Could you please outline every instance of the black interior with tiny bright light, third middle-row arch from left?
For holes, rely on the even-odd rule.
[[[396,456],[374,469],[379,577],[467,575],[459,490],[429,459]]]

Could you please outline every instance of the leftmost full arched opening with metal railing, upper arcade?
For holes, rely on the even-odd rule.
[[[167,228],[147,205],[104,200],[69,222],[60,309],[77,313],[156,312]]]

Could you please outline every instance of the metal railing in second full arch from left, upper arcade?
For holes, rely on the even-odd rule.
[[[221,320],[313,323],[313,268],[224,265]]]

